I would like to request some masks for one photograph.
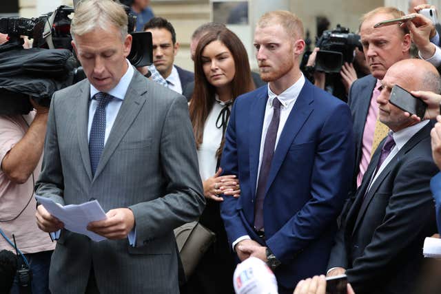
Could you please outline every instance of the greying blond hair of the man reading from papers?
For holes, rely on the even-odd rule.
[[[108,30],[110,25],[121,30],[121,39],[127,36],[127,14],[121,3],[113,0],[82,0],[75,8],[75,14],[70,24],[70,34],[81,36],[101,28]]]

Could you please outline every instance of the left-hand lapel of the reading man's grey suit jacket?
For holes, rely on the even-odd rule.
[[[89,142],[88,142],[88,119],[89,119],[89,99],[90,99],[90,83],[85,81],[79,92],[77,92],[76,101],[76,129],[79,140],[79,149],[83,165],[88,174],[89,180],[92,181],[92,167],[90,166]]]

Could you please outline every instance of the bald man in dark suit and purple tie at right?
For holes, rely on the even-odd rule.
[[[382,80],[379,116],[391,132],[342,214],[329,260],[328,275],[346,273],[357,294],[411,293],[424,238],[436,232],[429,189],[437,171],[431,158],[432,123],[418,123],[389,103],[394,85],[439,92],[440,76],[426,61],[407,59],[389,67]]]

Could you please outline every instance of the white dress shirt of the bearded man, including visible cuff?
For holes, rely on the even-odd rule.
[[[260,174],[260,165],[262,165],[263,147],[265,146],[265,138],[267,137],[269,123],[271,123],[271,118],[273,117],[273,113],[274,113],[273,100],[274,98],[278,98],[278,101],[280,101],[281,104],[280,120],[277,129],[276,144],[274,145],[274,150],[275,150],[277,148],[280,134],[282,134],[283,127],[285,127],[285,123],[287,122],[288,116],[291,113],[291,110],[297,101],[298,94],[300,94],[303,85],[305,85],[305,76],[303,76],[303,74],[301,74],[300,78],[296,81],[296,83],[291,85],[291,87],[289,87],[287,90],[282,92],[280,95],[274,94],[274,92],[271,91],[268,84],[268,101],[265,107],[265,116],[263,118],[262,137],[260,138],[260,153],[259,153],[259,166],[257,171],[257,179],[259,178],[259,174]],[[258,185],[257,179],[256,179],[256,191]],[[249,237],[249,235],[244,235],[242,237],[237,238],[232,244],[233,250],[234,250],[234,246],[236,246],[238,242],[246,239],[251,239],[251,238]]]

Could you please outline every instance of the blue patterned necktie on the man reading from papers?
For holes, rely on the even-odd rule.
[[[101,158],[104,149],[105,107],[107,103],[112,100],[113,96],[99,92],[96,93],[93,98],[98,102],[89,136],[90,165],[92,166],[92,175],[94,176],[96,167],[98,167],[99,158]]]

